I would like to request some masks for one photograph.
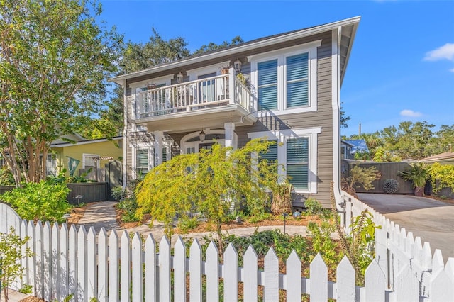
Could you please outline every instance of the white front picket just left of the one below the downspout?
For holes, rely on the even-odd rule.
[[[321,258],[320,253],[314,257],[310,267],[311,282],[309,285],[309,293],[311,301],[327,301],[328,300],[328,268]]]

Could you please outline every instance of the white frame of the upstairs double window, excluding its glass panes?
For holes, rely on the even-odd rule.
[[[317,111],[317,48],[320,46],[321,40],[316,40],[310,43],[304,43],[248,57],[248,61],[251,62],[250,79],[253,82],[253,86],[257,87],[257,93],[258,64],[277,59],[277,109],[257,111],[255,116],[264,117],[279,114]],[[287,107],[287,57],[302,55],[304,53],[308,53],[308,105]],[[258,104],[256,106],[258,108]]]

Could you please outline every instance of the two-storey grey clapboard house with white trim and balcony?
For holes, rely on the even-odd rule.
[[[276,140],[295,206],[340,192],[339,91],[360,17],[272,35],[110,79],[123,86],[123,185],[213,143]],[[231,67],[225,69],[224,67]],[[236,74],[241,73],[246,81]]]

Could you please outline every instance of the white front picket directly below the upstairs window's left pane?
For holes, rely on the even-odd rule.
[[[271,247],[265,255],[263,301],[279,301],[279,258]]]

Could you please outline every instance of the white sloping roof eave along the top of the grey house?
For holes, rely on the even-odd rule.
[[[309,36],[309,35],[316,35],[317,33],[323,33],[323,32],[326,32],[328,30],[334,30],[334,29],[338,28],[339,26],[353,25],[354,29],[353,29],[352,37],[354,38],[354,35],[355,35],[355,32],[356,32],[356,28],[358,27],[358,23],[360,21],[360,18],[361,18],[361,16],[356,16],[356,17],[353,17],[353,18],[348,18],[348,19],[341,20],[341,21],[336,21],[336,22],[333,22],[333,23],[323,24],[321,26],[314,26],[313,28],[303,29],[303,30],[300,30],[300,31],[297,31],[297,32],[294,32],[294,33],[289,33],[287,35],[279,35],[279,36],[277,36],[275,38],[270,38],[270,39],[267,39],[267,40],[261,40],[261,41],[258,41],[256,43],[240,45],[238,47],[234,47],[234,48],[231,48],[231,49],[220,50],[218,52],[210,53],[210,54],[207,54],[207,55],[201,55],[199,57],[192,57],[192,58],[189,58],[187,60],[172,62],[172,63],[167,64],[167,65],[161,65],[161,66],[157,66],[157,67],[150,67],[148,69],[140,70],[138,72],[132,72],[130,74],[123,74],[123,75],[108,79],[108,81],[109,82],[115,82],[116,84],[119,84],[119,85],[124,85],[126,79],[130,79],[130,78],[133,78],[133,77],[140,77],[140,76],[143,76],[143,75],[146,75],[146,74],[151,74],[151,73],[153,73],[153,72],[155,72],[157,70],[162,71],[162,70],[166,70],[166,69],[173,69],[173,68],[183,67],[185,65],[189,65],[189,64],[193,64],[193,63],[197,63],[197,62],[203,62],[203,61],[210,60],[210,59],[216,59],[217,57],[223,57],[223,56],[226,56],[226,55],[234,55],[237,52],[243,52],[243,51],[250,50],[250,49],[255,49],[255,48],[258,48],[258,47],[264,47],[264,46],[267,46],[267,45],[273,45],[273,44],[277,44],[277,43],[282,43],[282,42],[285,42],[287,40],[294,40],[294,39],[297,39],[297,38],[304,38],[304,37]],[[353,40],[354,40],[353,38],[351,39],[349,48],[351,46],[351,43],[353,43]],[[350,55],[350,50],[348,50],[348,55],[347,55],[347,58],[346,58],[347,61],[348,61],[349,55]],[[344,73],[345,73],[345,71],[344,71]],[[341,75],[341,82],[342,82],[342,79],[343,79],[343,74]]]

